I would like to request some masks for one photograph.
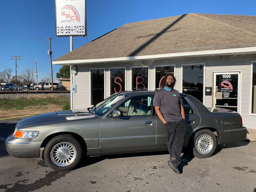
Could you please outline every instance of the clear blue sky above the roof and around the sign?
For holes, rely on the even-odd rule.
[[[87,0],[87,38],[93,39],[124,25],[125,23],[157,19],[186,13],[256,15],[256,1],[152,1],[152,0]],[[53,37],[53,60],[69,52],[69,37],[55,36],[54,0],[5,0],[1,1],[0,19],[0,71],[6,67],[14,70],[15,60],[20,56],[18,72],[31,68],[33,59],[39,64],[38,81],[49,77],[49,44],[44,38]],[[3,32],[4,31],[4,32]],[[18,39],[16,39],[12,34]],[[74,37],[74,49],[86,44],[86,37]],[[53,81],[59,71],[53,65]],[[35,69],[35,66],[33,66]],[[35,76],[35,73],[34,73]],[[34,78],[35,79],[35,78]]]

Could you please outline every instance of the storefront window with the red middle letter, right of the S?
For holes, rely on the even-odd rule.
[[[132,90],[148,90],[148,67],[132,68]]]

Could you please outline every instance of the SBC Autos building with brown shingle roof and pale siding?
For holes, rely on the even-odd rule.
[[[123,90],[175,89],[256,129],[256,16],[189,13],[127,23],[53,61],[75,66],[75,109]]]

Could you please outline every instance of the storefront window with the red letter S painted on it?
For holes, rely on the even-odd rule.
[[[125,69],[110,69],[110,89],[111,94],[124,91],[125,89]]]

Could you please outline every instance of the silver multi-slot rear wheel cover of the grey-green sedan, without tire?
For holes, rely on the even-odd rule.
[[[196,150],[200,154],[209,153],[213,147],[213,139],[208,134],[202,134],[196,139]]]

